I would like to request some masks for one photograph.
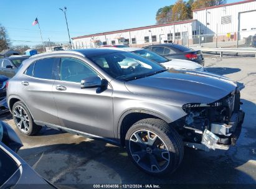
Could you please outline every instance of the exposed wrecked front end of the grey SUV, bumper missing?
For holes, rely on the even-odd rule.
[[[240,104],[239,89],[214,103],[184,104],[187,116],[176,121],[174,126],[188,147],[227,150],[235,145],[241,132],[244,111]]]

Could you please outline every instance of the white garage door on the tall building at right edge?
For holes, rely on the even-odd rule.
[[[256,34],[256,11],[240,12],[240,39]]]

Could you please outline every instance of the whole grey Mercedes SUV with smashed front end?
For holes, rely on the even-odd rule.
[[[84,49],[34,55],[7,85],[23,134],[42,126],[125,146],[153,175],[174,172],[184,145],[228,149],[244,112],[236,83],[224,76],[166,70],[130,52]]]

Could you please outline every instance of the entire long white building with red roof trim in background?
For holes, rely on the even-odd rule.
[[[83,35],[73,37],[72,40],[75,48],[114,44],[142,47],[169,40],[182,45],[223,42],[255,35],[254,19],[256,19],[256,0],[247,0],[193,10],[193,19],[187,21]]]

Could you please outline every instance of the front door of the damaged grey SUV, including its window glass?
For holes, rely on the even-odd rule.
[[[98,76],[97,71],[77,58],[60,61],[60,78],[53,87],[61,126],[95,136],[113,137],[113,90],[81,88],[81,80]]]

